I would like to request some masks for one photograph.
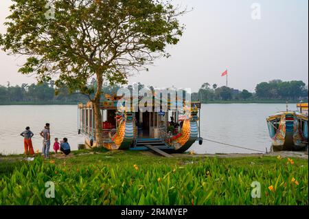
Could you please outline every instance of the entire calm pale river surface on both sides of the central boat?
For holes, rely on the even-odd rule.
[[[270,149],[271,140],[265,118],[285,109],[286,104],[203,104],[201,136],[266,151],[266,148]],[[289,104],[289,109],[297,110],[296,104]],[[38,133],[46,122],[51,124],[52,139],[67,137],[71,148],[77,150],[78,143],[84,141],[82,135],[78,135],[77,112],[77,106],[72,105],[0,106],[0,153],[23,153],[23,137],[19,134],[26,126],[34,132],[34,150],[41,151],[42,141]],[[204,141],[202,146],[196,142],[190,150],[200,154],[253,152],[209,141]]]

